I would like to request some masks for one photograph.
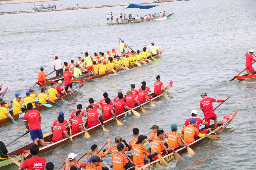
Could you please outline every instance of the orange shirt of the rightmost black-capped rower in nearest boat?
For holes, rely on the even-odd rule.
[[[145,165],[145,163],[143,162],[143,156],[150,155],[147,149],[139,144],[134,144],[132,150],[133,150],[133,163],[136,164],[137,166]]]

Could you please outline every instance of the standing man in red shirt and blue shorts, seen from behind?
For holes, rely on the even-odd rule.
[[[39,139],[42,146],[46,146],[43,138],[43,132],[41,129],[41,115],[38,110],[33,110],[32,103],[27,104],[28,112],[24,115],[24,122],[26,128],[29,130],[30,137],[33,140],[34,144],[37,145]],[[33,153],[32,153],[33,155]]]

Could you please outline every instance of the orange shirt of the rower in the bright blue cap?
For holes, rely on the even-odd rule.
[[[200,134],[200,132],[192,125],[188,125],[185,128],[183,128],[180,132],[181,134],[184,134],[184,142],[186,144],[191,144],[195,141],[194,136]]]

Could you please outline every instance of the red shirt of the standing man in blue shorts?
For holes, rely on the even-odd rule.
[[[41,117],[41,115],[38,110],[30,110],[25,113],[24,122],[28,122],[29,130],[41,129],[39,117]]]

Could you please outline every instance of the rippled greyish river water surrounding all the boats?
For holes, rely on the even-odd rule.
[[[65,2],[61,1],[63,4]],[[122,1],[124,4],[129,2]],[[111,3],[114,1],[98,1],[88,6]],[[13,10],[7,11],[18,11],[22,5],[25,4],[11,4],[9,6]],[[5,11],[6,6],[1,5],[1,11]],[[112,48],[119,51],[116,36],[136,50],[142,50],[144,41],[153,42],[164,49],[159,60],[152,63],[95,79],[90,84],[85,82],[81,91],[68,99],[72,104],[60,102],[63,107],[53,106],[41,111],[41,126],[43,132],[47,133],[58,112],[63,111],[64,117],[68,119],[76,105],[81,103],[85,108],[90,97],[101,100],[103,92],[108,92],[113,100],[117,90],[126,92],[131,83],[135,83],[138,90],[143,80],[153,89],[157,75],[161,76],[164,85],[173,81],[168,92],[170,99],[156,101],[157,107],[146,106],[148,114],[140,111],[139,118],[128,116],[121,120],[123,126],[117,126],[116,123],[107,126],[110,130],[108,133],[97,130],[89,139],[74,139],[73,147],[68,143],[40,155],[47,162],[53,162],[56,169],[70,152],[76,153],[79,158],[92,144],[101,147],[108,137],[114,141],[116,136],[123,136],[128,142],[133,138],[132,129],[135,127],[140,129],[140,134],[145,134],[154,124],[170,130],[171,124],[176,123],[180,131],[192,109],[198,110],[199,118],[204,117],[200,111],[199,95],[202,91],[216,99],[230,97],[215,113],[220,120],[223,115],[231,115],[238,110],[235,119],[218,134],[218,141],[209,139],[194,148],[195,156],[183,154],[180,161],[172,160],[166,168],[157,166],[153,169],[255,169],[256,82],[229,82],[244,69],[246,51],[256,48],[255,1],[178,1],[163,3],[163,7],[167,13],[175,12],[171,18],[116,26],[104,24],[106,14],[111,11],[123,12],[123,6],[0,16],[0,84],[4,83],[3,88],[9,87],[4,97],[7,102],[13,100],[16,92],[25,95],[35,84],[40,67],[43,66],[45,72],[50,73],[53,70],[54,55],[58,55],[62,63],[70,63],[71,59],[76,61],[82,56],[81,51],[88,51],[91,55]],[[124,13],[145,15],[159,11],[162,11],[162,6],[147,11],[127,9]],[[34,88],[39,93],[41,87],[36,85]],[[213,107],[217,105],[214,103]],[[25,132],[23,120],[17,122],[18,125],[8,123],[0,127],[0,140],[5,144]],[[8,150],[12,151],[30,142],[30,136],[26,135],[8,146]],[[107,163],[112,161],[111,156],[104,160]],[[17,166],[2,169],[16,170]]]

